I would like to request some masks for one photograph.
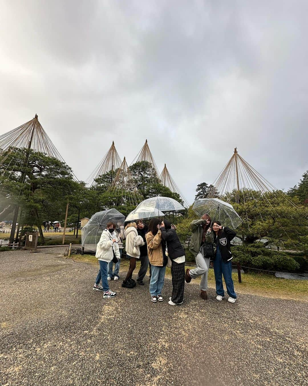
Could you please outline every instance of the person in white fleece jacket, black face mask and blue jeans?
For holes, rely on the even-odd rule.
[[[93,290],[104,291],[103,298],[114,298],[114,296],[117,295],[116,292],[110,290],[107,280],[107,266],[114,258],[113,252],[117,259],[120,258],[119,246],[117,244],[117,239],[115,238],[116,235],[114,230],[115,224],[109,222],[106,229],[102,231],[95,253],[95,256],[99,261],[99,273],[96,276]],[[100,285],[100,281],[102,281],[102,285]]]

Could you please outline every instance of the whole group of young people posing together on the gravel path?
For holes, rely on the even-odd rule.
[[[100,269],[95,279],[93,289],[104,291],[104,298],[112,298],[116,295],[109,288],[108,281],[119,278],[119,265],[123,248],[123,239],[126,239],[126,253],[130,259],[129,270],[122,283],[124,288],[134,288],[136,281],[132,279],[132,273],[136,268],[136,260],[141,260],[141,268],[137,282],[144,284],[142,279],[150,263],[150,296],[152,302],[163,301],[162,289],[164,286],[166,266],[171,267],[172,294],[169,304],[174,306],[182,304],[184,300],[184,284],[192,279],[201,277],[200,296],[207,300],[208,295],[208,269],[213,262],[216,299],[221,301],[224,297],[223,277],[226,283],[229,303],[236,301],[236,293],[232,279],[232,253],[230,242],[235,237],[234,230],[223,227],[219,221],[211,222],[211,218],[204,214],[199,220],[191,223],[191,241],[189,251],[196,259],[196,268],[186,269],[185,252],[176,233],[175,225],[168,220],[160,221],[152,218],[149,227],[145,230],[142,221],[130,222],[121,227],[121,233],[115,231],[115,224],[110,222],[102,232],[97,244],[96,257],[99,260]],[[142,247],[147,247],[147,257]],[[113,271],[113,264],[115,270]],[[101,284],[100,284],[101,282]]]

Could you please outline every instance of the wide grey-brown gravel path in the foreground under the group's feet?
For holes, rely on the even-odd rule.
[[[145,286],[92,291],[98,266],[64,249],[0,254],[2,385],[307,385],[308,304],[240,295],[151,303]],[[122,276],[124,276],[122,274]]]

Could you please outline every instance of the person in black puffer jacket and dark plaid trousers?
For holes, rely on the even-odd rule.
[[[175,306],[182,304],[184,299],[185,284],[185,251],[176,234],[176,230],[171,227],[171,222],[163,220],[161,222],[161,238],[167,243],[166,251],[172,262],[172,295],[169,304]]]

